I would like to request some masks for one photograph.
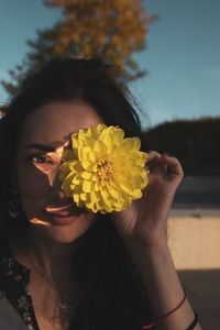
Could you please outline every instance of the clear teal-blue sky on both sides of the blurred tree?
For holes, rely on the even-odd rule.
[[[143,116],[143,128],[174,119],[220,116],[220,1],[144,0],[147,12],[160,14],[150,25],[147,47],[134,58],[148,75],[131,89]],[[41,0],[0,3],[0,79],[21,64],[26,40],[59,18]],[[0,87],[0,103],[8,95]]]

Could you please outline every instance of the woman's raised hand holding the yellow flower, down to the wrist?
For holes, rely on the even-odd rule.
[[[112,221],[129,244],[154,246],[166,241],[166,224],[174,195],[183,178],[175,157],[148,152],[148,185],[129,209],[112,212]]]

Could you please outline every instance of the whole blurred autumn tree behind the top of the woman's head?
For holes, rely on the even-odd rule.
[[[28,41],[31,52],[9,72],[13,82],[1,81],[8,92],[18,92],[24,77],[54,56],[101,56],[125,69],[131,80],[146,74],[131,55],[144,50],[147,26],[157,15],[147,15],[142,0],[44,0],[44,4],[62,8],[63,19]]]

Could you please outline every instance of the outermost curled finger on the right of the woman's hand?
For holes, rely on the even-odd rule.
[[[179,161],[176,157],[170,157],[166,154],[162,155],[162,161],[168,166],[169,173],[167,174],[168,182],[176,182],[179,184],[184,176],[184,170]]]

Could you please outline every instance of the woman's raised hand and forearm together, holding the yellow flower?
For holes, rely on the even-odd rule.
[[[174,310],[184,292],[166,242],[166,224],[175,191],[183,178],[179,162],[157,152],[148,153],[148,185],[128,210],[111,213],[144,283],[155,319]],[[167,170],[168,169],[168,170]],[[170,285],[172,283],[172,285]],[[158,329],[188,329],[195,316],[189,301],[173,312]],[[195,330],[201,330],[197,324]]]

